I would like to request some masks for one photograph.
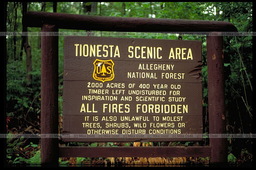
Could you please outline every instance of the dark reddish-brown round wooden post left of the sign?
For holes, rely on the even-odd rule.
[[[42,32],[58,32],[43,24]],[[41,36],[41,134],[58,134],[58,36]],[[41,164],[58,166],[58,138],[41,138]]]

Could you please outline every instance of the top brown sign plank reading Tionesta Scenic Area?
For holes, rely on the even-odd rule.
[[[118,51],[120,54],[119,56],[117,51],[115,51],[117,48],[116,46],[118,46]],[[64,47],[65,47],[64,56],[66,59],[80,58],[81,60],[84,60],[84,59],[98,58],[101,60],[114,59],[115,61],[118,61],[118,60],[134,61],[135,60],[135,61],[167,61],[167,62],[189,62],[189,63],[202,62],[202,42],[201,41],[188,41],[188,40],[180,41],[180,40],[162,40],[162,39],[146,39],[146,38],[94,37],[94,36],[76,36],[76,37],[65,36]],[[95,48],[95,53],[93,51],[94,48]],[[76,49],[77,49],[77,53],[74,53],[76,52]],[[87,52],[87,49],[88,49],[88,52]],[[171,53],[170,55],[171,50],[173,51],[173,53]],[[142,51],[145,52],[143,53],[143,56],[141,54]],[[150,55],[151,51],[152,51],[152,56]],[[147,52],[149,52],[149,55],[147,55]],[[177,54],[177,58],[176,58],[176,54]],[[192,54],[193,60],[191,60],[190,58],[191,54]],[[130,57],[128,57],[128,55],[130,55]],[[187,57],[189,58],[189,60],[187,60]]]

